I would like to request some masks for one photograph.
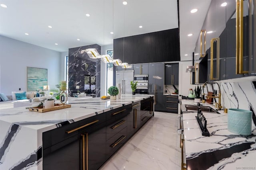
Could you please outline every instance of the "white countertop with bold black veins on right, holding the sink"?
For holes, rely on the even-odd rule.
[[[193,100],[182,100],[182,105],[193,103]],[[207,120],[210,137],[202,136],[195,119],[197,112],[183,113],[187,169],[255,170],[256,127],[254,123],[252,122],[250,136],[231,133],[228,131],[228,114],[219,112],[220,114],[202,112]]]

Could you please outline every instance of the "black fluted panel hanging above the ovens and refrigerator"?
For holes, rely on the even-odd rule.
[[[114,59],[129,64],[180,61],[179,29],[114,39]]]

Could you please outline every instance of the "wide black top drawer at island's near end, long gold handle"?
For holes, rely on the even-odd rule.
[[[55,145],[56,143],[59,143],[70,137],[73,137],[74,135],[77,135],[83,130],[100,124],[102,125],[102,127],[106,126],[105,113],[88,117],[86,119],[70,123],[67,125],[62,125],[62,127],[58,127],[50,131],[46,131],[42,134],[43,138],[45,139],[43,140],[43,147],[44,149],[46,149],[52,145]]]

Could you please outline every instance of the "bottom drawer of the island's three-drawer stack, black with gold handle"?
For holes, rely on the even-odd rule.
[[[127,127],[106,142],[106,160],[110,158],[127,141]]]

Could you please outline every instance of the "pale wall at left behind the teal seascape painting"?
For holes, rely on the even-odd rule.
[[[61,53],[0,35],[0,92],[27,90],[27,66],[48,69],[48,85],[61,80]]]

